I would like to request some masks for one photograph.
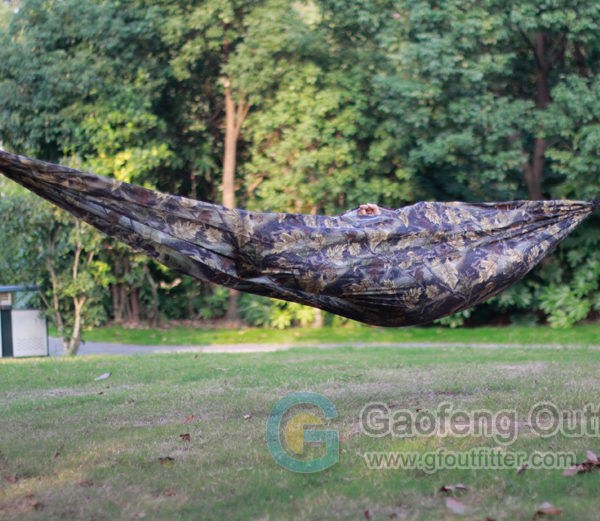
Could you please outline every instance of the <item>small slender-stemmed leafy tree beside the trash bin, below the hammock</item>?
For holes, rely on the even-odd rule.
[[[91,227],[31,195],[0,198],[0,282],[38,285],[65,351],[103,321],[100,305],[110,271]]]

